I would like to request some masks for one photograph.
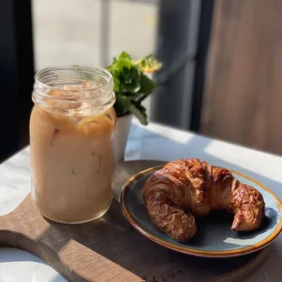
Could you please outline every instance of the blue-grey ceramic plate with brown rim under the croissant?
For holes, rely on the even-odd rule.
[[[187,243],[167,237],[148,217],[142,195],[146,179],[159,168],[151,167],[133,176],[121,194],[122,211],[129,223],[157,244],[199,257],[236,257],[267,247],[281,232],[282,204],[277,196],[257,180],[231,171],[240,182],[256,187],[264,196],[267,217],[263,226],[253,232],[233,233],[230,231],[233,216],[218,211],[196,218],[196,236]]]

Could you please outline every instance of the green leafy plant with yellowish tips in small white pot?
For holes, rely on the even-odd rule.
[[[146,55],[135,61],[126,52],[114,57],[106,69],[112,74],[116,93],[116,161],[124,157],[132,117],[146,126],[146,108],[142,102],[156,88],[156,83],[146,74],[152,74],[161,67],[154,55]]]

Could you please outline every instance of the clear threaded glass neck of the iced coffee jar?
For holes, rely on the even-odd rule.
[[[49,112],[88,116],[116,102],[112,75],[85,66],[47,67],[35,75],[33,100]]]

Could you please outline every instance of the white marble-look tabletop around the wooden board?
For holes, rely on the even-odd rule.
[[[282,146],[282,144],[281,144]],[[282,199],[282,157],[151,123],[133,121],[126,160],[172,161],[198,157],[215,166],[240,171],[271,188]],[[0,165],[0,215],[15,209],[30,191],[29,147]],[[25,251],[0,248],[0,282],[66,281],[52,267]],[[267,261],[247,282],[282,281],[282,236],[271,247]]]

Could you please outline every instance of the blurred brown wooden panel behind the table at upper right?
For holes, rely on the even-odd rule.
[[[282,154],[282,1],[216,0],[201,133]]]

